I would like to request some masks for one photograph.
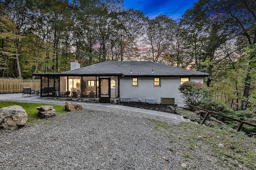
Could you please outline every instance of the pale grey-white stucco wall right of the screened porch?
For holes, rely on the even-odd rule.
[[[190,80],[203,82],[201,77],[193,77]],[[120,98],[130,98],[131,102],[145,102],[146,99],[156,100],[160,104],[162,98],[175,98],[175,104],[182,106],[183,100],[180,97],[178,87],[180,77],[161,77],[160,87],[154,87],[153,77],[139,77],[138,87],[132,87],[132,78],[120,79]]]

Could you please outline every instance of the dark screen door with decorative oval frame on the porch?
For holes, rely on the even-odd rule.
[[[99,78],[99,102],[110,103],[110,78]]]

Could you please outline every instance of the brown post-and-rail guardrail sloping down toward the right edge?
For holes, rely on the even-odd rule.
[[[233,121],[238,121],[239,122],[238,130],[237,130],[238,132],[241,130],[241,128],[244,124],[256,127],[256,125],[254,125],[252,123],[248,123],[248,122],[245,122],[245,121],[242,121],[242,120],[239,120],[239,119],[235,119],[233,117],[229,117],[229,116],[226,116],[226,115],[222,115],[220,113],[216,113],[216,112],[213,112],[213,111],[210,111],[210,110],[206,110],[206,109],[203,109],[201,107],[193,106],[193,105],[190,105],[190,104],[188,106],[193,107],[194,109],[198,109],[198,110],[202,110],[202,111],[207,112],[207,114],[205,115],[204,120],[202,121],[201,125],[204,124],[204,122],[206,121],[206,119],[209,117],[210,114],[213,114],[213,115],[218,115],[218,116],[221,116],[221,117],[225,117],[227,119],[231,119]]]

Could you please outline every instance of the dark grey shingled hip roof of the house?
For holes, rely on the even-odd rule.
[[[130,73],[132,70],[132,73]],[[152,70],[154,73],[152,73]],[[61,74],[114,74],[124,76],[208,76],[204,72],[186,70],[175,66],[154,63],[150,61],[106,61],[103,63],[85,66]]]

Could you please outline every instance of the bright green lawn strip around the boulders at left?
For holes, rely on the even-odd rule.
[[[28,122],[32,122],[35,119],[37,119],[38,110],[36,109],[36,107],[38,107],[38,106],[44,106],[44,105],[53,106],[53,108],[56,110],[57,114],[66,112],[65,111],[65,107],[64,106],[60,106],[60,105],[32,104],[32,103],[18,103],[18,102],[4,102],[4,101],[0,101],[0,108],[8,107],[8,106],[13,106],[13,105],[21,106],[21,107],[23,107],[23,109],[26,110],[26,112],[28,114]]]

